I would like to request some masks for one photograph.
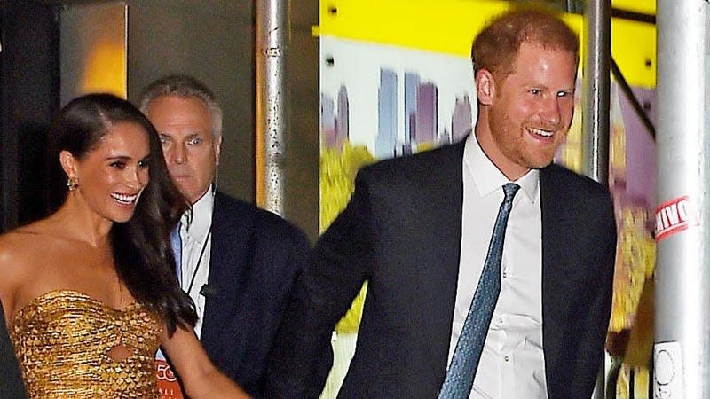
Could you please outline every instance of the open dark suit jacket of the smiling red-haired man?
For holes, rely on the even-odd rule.
[[[360,171],[348,207],[296,283],[269,363],[269,397],[318,397],[330,332],[364,280],[357,348],[339,397],[437,396],[461,255],[463,145]],[[590,397],[611,309],[611,197],[591,179],[550,165],[540,169],[540,204],[548,395]]]

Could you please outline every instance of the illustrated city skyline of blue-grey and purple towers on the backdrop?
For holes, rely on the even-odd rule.
[[[469,95],[457,95],[448,123],[438,129],[438,88],[436,83],[423,81],[416,72],[398,75],[389,68],[379,69],[377,89],[377,131],[375,148],[370,150],[378,159],[415,153],[417,149],[454,143],[471,129]],[[404,78],[403,90],[398,79]],[[404,91],[404,92],[399,92]],[[404,126],[398,126],[398,102],[404,101]],[[341,85],[337,98],[320,95],[320,133],[323,145],[339,149],[350,138],[350,103],[348,89]],[[400,111],[401,112],[401,108]]]

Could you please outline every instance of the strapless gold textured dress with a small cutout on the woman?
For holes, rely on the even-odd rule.
[[[141,304],[117,310],[58,290],[21,309],[10,338],[31,399],[158,398],[154,358],[161,333],[160,317]],[[115,360],[113,348],[130,355]]]

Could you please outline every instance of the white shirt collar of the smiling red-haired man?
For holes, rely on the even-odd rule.
[[[473,184],[481,197],[491,192],[500,190],[504,184],[511,183],[501,170],[483,152],[478,144],[476,134],[471,132],[466,138],[463,148],[463,167],[469,170]],[[524,176],[513,182],[520,185],[520,190],[531,202],[538,198],[538,185],[540,184],[540,170],[530,169]]]

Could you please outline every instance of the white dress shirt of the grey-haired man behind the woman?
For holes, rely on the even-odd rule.
[[[180,221],[180,239],[182,240],[182,262],[180,265],[180,286],[193,299],[197,310],[197,323],[194,332],[200,337],[202,317],[205,314],[205,297],[201,295],[202,286],[207,284],[209,276],[209,252],[212,246],[212,210],[215,207],[215,195],[212,188],[193,204]],[[191,286],[192,285],[192,286]]]

